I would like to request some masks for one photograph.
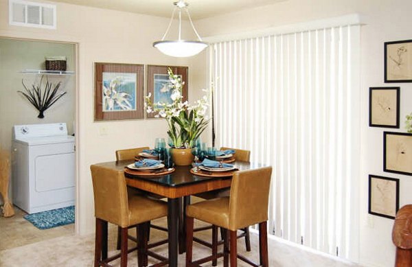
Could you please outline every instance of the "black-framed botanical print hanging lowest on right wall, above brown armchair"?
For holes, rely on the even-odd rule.
[[[368,212],[395,219],[399,209],[399,179],[369,175]]]

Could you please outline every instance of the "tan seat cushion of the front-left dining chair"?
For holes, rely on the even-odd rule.
[[[129,226],[168,215],[168,204],[161,200],[133,195],[128,198]]]

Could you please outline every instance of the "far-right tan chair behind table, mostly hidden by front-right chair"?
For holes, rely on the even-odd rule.
[[[236,149],[236,148],[226,148],[226,147],[222,147],[220,148],[221,151],[223,150],[235,150],[235,154],[233,154],[233,157],[236,159],[236,161],[247,161],[250,162],[251,159],[251,152],[249,150],[241,150],[241,149]],[[214,198],[220,198],[222,196],[229,196],[229,191],[230,189],[218,189],[218,190],[214,190],[214,191],[207,191],[204,193],[200,193],[200,194],[196,194],[195,196],[197,196],[198,198],[203,198],[205,200],[211,200]],[[196,229],[194,229],[194,232],[198,232],[198,231],[205,231],[205,230],[209,230],[212,229],[212,240],[213,240],[213,227],[211,225],[206,226],[206,227],[198,227]],[[244,237],[244,244],[246,246],[246,250],[247,251],[251,251],[251,238],[250,238],[250,233],[249,233],[249,227],[245,227],[244,229],[240,229],[240,231],[242,231],[242,233],[240,233],[238,235],[238,238],[242,238]],[[223,239],[224,239],[224,232],[222,231],[222,229],[220,229],[220,235],[222,237],[222,240],[220,240],[217,245],[223,244]],[[217,237],[216,237],[217,238]],[[213,243],[209,243],[205,240],[201,240],[198,237],[194,237],[194,241],[198,242],[199,244],[202,244],[203,246],[207,246],[209,248],[211,248],[212,250],[216,250],[217,248],[213,247]],[[213,266],[216,266],[216,261],[214,261]]]

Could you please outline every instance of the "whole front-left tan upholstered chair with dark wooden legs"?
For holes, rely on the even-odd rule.
[[[95,202],[95,262],[94,266],[108,266],[108,262],[120,257],[120,266],[127,266],[128,227],[139,229],[139,266],[147,265],[147,229],[150,220],[168,215],[165,202],[144,196],[128,196],[126,179],[122,173],[99,165],[91,165],[91,178]],[[107,258],[107,222],[121,229],[121,251]]]

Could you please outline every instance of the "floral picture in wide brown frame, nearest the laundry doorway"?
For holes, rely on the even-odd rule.
[[[95,121],[144,119],[144,65],[95,63]]]

